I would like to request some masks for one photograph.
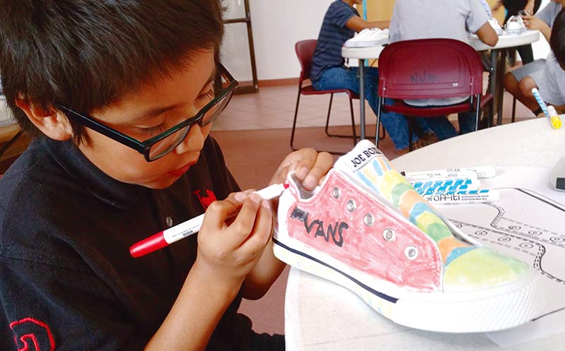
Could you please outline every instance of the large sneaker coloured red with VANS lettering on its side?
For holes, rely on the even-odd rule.
[[[542,275],[458,230],[370,141],[307,191],[291,173],[273,252],[412,328],[476,333],[539,316]]]

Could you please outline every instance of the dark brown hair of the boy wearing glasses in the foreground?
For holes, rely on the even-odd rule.
[[[78,112],[103,109],[167,76],[223,37],[220,0],[0,0],[0,73],[21,128],[40,131],[16,97]],[[76,141],[81,129],[71,120]]]

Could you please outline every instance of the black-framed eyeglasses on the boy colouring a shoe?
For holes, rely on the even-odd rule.
[[[206,106],[204,106],[194,117],[186,119],[171,129],[167,129],[167,131],[163,131],[159,135],[153,136],[153,138],[149,138],[145,141],[138,141],[135,138],[126,136],[124,133],[120,133],[116,129],[102,124],[88,115],[74,112],[72,109],[62,105],[59,105],[58,107],[66,114],[67,117],[74,119],[79,124],[82,124],[93,131],[97,131],[118,143],[138,151],[138,153],[145,156],[145,160],[147,160],[147,162],[151,162],[167,155],[167,153],[170,153],[174,150],[174,148],[182,143],[184,138],[186,138],[186,135],[189,133],[191,126],[194,124],[206,126],[212,123],[214,119],[220,116],[220,113],[222,113],[228,102],[230,102],[239,83],[233,78],[230,72],[222,66],[222,64],[219,64],[218,68],[220,76],[227,83],[227,87],[223,88],[218,93],[214,93],[213,100],[208,102],[208,104],[206,104]]]

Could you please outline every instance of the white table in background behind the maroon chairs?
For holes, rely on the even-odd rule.
[[[491,71],[489,73],[489,81],[491,87],[491,93],[493,97],[496,97],[498,101],[498,118],[497,125],[502,124],[502,84],[501,78],[504,74],[504,65],[500,67],[497,65],[499,62],[498,56],[501,54],[502,59],[500,61],[504,62],[506,59],[506,49],[508,47],[516,47],[524,44],[531,44],[540,39],[540,32],[538,30],[526,30],[521,35],[508,35],[506,30],[502,35],[499,35],[499,40],[496,42],[494,47],[489,47],[479,40],[476,35],[470,35],[468,38],[469,44],[475,48],[477,51],[491,50]],[[365,59],[378,59],[383,51],[383,45],[374,45],[371,47],[342,47],[341,56],[346,59],[358,59],[359,60],[359,119],[360,119],[360,129],[361,138],[365,138],[365,95],[364,95],[364,60]],[[498,78],[497,78],[498,77]]]

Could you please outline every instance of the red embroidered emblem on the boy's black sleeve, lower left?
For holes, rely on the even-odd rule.
[[[46,323],[30,317],[10,323],[18,351],[53,351],[55,339]],[[21,343],[20,343],[21,342]],[[30,350],[30,342],[35,349]]]

